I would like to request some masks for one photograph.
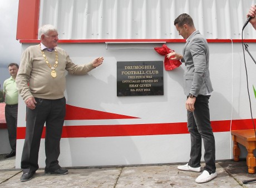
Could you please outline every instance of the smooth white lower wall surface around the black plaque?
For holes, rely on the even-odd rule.
[[[22,50],[30,44],[22,44]],[[112,44],[115,47],[115,44]],[[134,44],[136,47],[139,44]],[[141,45],[141,44],[140,44]],[[145,44],[156,47],[160,44]],[[167,43],[178,53],[184,43]],[[69,105],[140,117],[123,120],[74,120],[65,126],[133,125],[145,123],[186,122],[183,93],[184,65],[173,71],[164,71],[163,96],[116,96],[117,61],[163,61],[153,49],[107,50],[105,43],[60,43],[73,62],[90,62],[103,56],[104,64],[85,76],[67,75],[66,98]],[[126,47],[126,44],[122,44]],[[241,43],[209,43],[210,77],[214,93],[210,98],[211,121],[250,118],[243,50]],[[249,50],[256,55],[256,44]],[[232,53],[233,52],[233,53]],[[245,52],[249,75],[249,89],[255,114],[255,64]],[[18,127],[26,126],[25,105],[19,98]],[[232,158],[230,132],[215,132],[216,160]],[[16,168],[20,167],[23,139],[17,140]],[[160,164],[189,160],[189,134],[62,138],[60,164],[62,166],[103,166],[129,164]],[[44,140],[40,149],[40,167],[45,166]]]

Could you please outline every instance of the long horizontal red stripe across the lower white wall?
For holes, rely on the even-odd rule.
[[[230,120],[212,121],[213,132],[228,132]],[[232,130],[253,128],[251,119],[233,120]],[[81,125],[63,126],[62,138],[107,137],[107,136],[146,136],[175,135],[189,133],[186,122],[180,123],[150,123],[135,125]],[[26,127],[17,128],[17,139],[24,139]],[[45,138],[45,128],[42,138]]]

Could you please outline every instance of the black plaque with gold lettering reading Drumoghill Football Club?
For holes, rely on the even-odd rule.
[[[164,95],[163,61],[118,61],[117,96]]]

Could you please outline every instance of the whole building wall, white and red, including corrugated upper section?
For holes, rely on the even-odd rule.
[[[77,114],[88,113],[83,118],[66,119],[61,139],[61,166],[189,160],[184,65],[173,71],[164,70],[163,96],[116,95],[117,61],[163,61],[164,56],[153,49],[163,42],[176,52],[182,52],[184,40],[179,40],[181,37],[173,21],[184,12],[194,18],[195,27],[210,42],[210,77],[214,92],[209,106],[216,160],[233,157],[230,130],[253,128],[240,39],[246,14],[254,1],[19,0],[19,3],[17,39],[22,43],[22,51],[40,42],[35,40],[38,27],[53,24],[62,39],[58,46],[70,54],[73,62],[80,64],[99,56],[105,58],[102,66],[85,76],[66,76],[68,107],[74,107]],[[27,32],[30,28],[32,33]],[[250,24],[244,30],[244,38],[255,57],[255,31]],[[255,64],[247,52],[245,60],[254,115]],[[19,98],[16,168],[20,167],[25,137],[25,108]],[[43,135],[40,167],[45,166],[44,141]],[[246,150],[243,146],[240,148],[241,157],[245,157]]]

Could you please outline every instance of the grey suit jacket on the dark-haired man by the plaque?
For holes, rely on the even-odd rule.
[[[194,96],[206,95],[213,91],[209,72],[209,47],[206,39],[195,31],[186,40],[183,48],[185,61],[184,72],[184,93],[186,96],[191,93]]]

